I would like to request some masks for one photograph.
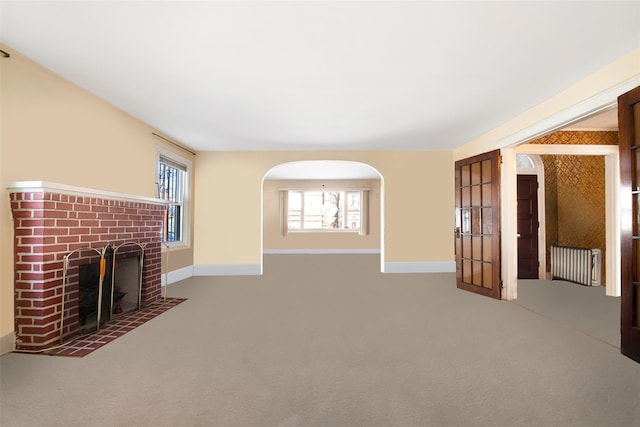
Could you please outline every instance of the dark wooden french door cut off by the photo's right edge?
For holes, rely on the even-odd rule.
[[[640,362],[640,87],[618,98],[622,298],[620,350]]]

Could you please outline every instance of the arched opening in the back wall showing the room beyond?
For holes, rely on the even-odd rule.
[[[265,254],[379,254],[383,271],[383,228],[384,179],[366,163],[300,160],[263,177],[262,262]]]

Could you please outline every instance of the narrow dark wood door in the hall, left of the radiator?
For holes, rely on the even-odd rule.
[[[538,278],[538,177],[518,175],[518,279]]]

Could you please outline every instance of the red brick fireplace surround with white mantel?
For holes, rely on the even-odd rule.
[[[78,322],[77,270],[96,258],[79,256],[66,271],[76,283],[65,283],[63,304],[64,258],[79,248],[99,251],[128,242],[144,245],[142,306],[160,300],[166,209],[161,200],[40,181],[13,183],[9,193],[18,350],[44,350],[57,345],[62,335],[73,335],[69,325]]]

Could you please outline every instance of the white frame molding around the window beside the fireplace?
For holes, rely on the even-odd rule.
[[[156,196],[160,196],[160,183],[158,182],[158,174],[160,170],[160,162],[162,158],[166,158],[178,165],[181,165],[185,168],[185,179],[184,179],[184,194],[182,195],[182,212],[181,212],[181,230],[180,230],[180,240],[176,240],[173,242],[162,241],[162,249],[173,249],[173,248],[188,248],[191,246],[191,181],[192,181],[192,171],[193,171],[193,161],[174,152],[171,150],[167,150],[163,147],[157,147],[156,149],[156,167],[155,167],[155,186],[156,186]],[[163,225],[164,230],[164,225]]]

